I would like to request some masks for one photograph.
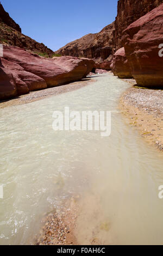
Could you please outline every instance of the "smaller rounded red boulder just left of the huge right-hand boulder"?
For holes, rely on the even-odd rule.
[[[120,48],[113,56],[111,70],[115,76],[119,78],[133,78],[130,72],[129,63],[124,51],[124,47]]]

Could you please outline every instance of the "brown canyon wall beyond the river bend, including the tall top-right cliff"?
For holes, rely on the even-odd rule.
[[[97,63],[110,62],[112,54],[122,47],[124,29],[161,3],[162,0],[119,0],[115,22],[99,33],[87,34],[70,42],[56,53],[62,56],[94,58]]]

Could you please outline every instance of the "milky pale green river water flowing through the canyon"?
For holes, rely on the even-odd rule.
[[[161,153],[126,124],[118,99],[129,85],[100,75],[79,90],[1,109],[0,243],[27,244],[45,212],[80,195],[80,244],[162,244]],[[112,111],[111,135],[53,131],[53,111]]]

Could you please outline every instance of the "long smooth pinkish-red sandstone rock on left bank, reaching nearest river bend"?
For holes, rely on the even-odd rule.
[[[47,59],[15,46],[4,46],[3,58],[20,65],[25,71],[41,77],[48,87],[81,80],[87,67],[76,57]]]

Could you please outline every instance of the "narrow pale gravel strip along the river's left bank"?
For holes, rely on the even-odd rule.
[[[36,100],[44,99],[45,97],[71,92],[73,90],[77,90],[84,86],[87,86],[87,84],[89,84],[90,82],[95,82],[95,80],[91,80],[91,77],[88,77],[81,81],[65,84],[63,86],[57,86],[53,88],[47,88],[43,90],[30,92],[29,94],[21,95],[14,99],[0,101],[0,108],[14,106],[14,105],[22,105],[22,104],[30,103]]]

